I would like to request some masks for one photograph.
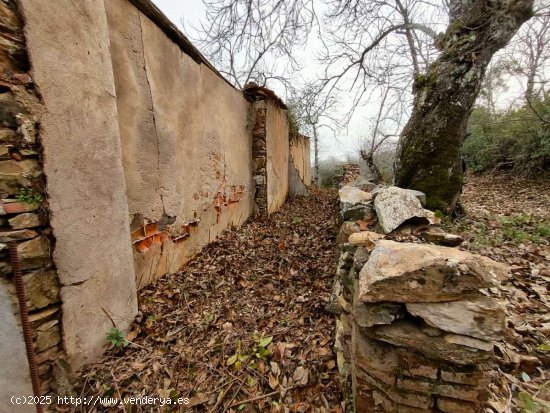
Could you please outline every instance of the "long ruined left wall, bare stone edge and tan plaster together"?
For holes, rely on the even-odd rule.
[[[15,240],[47,392],[62,360],[81,369],[113,325],[130,325],[140,287],[251,215],[252,105],[146,0],[0,6],[0,361],[24,360]],[[265,104],[273,211],[288,127],[280,104]],[[28,393],[19,361],[20,377],[0,374],[2,405],[6,391]]]

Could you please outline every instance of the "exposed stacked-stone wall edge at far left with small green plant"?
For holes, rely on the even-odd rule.
[[[0,2],[0,40],[0,288],[10,293],[18,313],[8,251],[8,243],[16,241],[45,394],[61,354],[59,284],[43,202],[42,107],[28,74],[23,24],[14,1]]]

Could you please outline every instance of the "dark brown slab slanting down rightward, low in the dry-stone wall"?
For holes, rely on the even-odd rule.
[[[429,359],[460,366],[483,363],[492,357],[490,351],[449,342],[446,340],[448,335],[430,336],[409,320],[398,320],[390,325],[376,326],[362,331],[377,340],[419,352]]]

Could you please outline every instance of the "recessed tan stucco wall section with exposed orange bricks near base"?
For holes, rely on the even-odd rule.
[[[144,286],[252,213],[250,104],[129,2],[106,7],[132,230],[166,234],[134,244]]]

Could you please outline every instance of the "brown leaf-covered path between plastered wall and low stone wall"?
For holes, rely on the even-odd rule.
[[[84,376],[83,395],[187,397],[126,411],[342,412],[324,306],[336,266],[335,191],[291,199],[145,288],[126,337]],[[124,411],[95,407],[83,411]]]

